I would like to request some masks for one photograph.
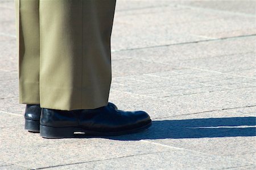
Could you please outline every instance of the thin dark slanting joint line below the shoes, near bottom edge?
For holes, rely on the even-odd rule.
[[[126,158],[126,157],[133,157],[133,156],[140,156],[140,155],[150,155],[150,154],[158,154],[158,153],[164,153],[164,152],[170,152],[170,151],[150,152],[150,153],[146,153],[146,154],[120,156],[120,157],[113,157],[113,158],[109,158],[109,159],[100,159],[100,160],[83,161],[83,162],[79,162],[79,163],[55,165],[55,166],[51,166],[51,167],[43,167],[43,168],[36,168],[36,169],[46,169],[46,168],[64,167],[64,166],[67,166],[67,165],[76,165],[76,164],[92,163],[92,162],[97,162],[97,161],[114,160],[114,159],[121,159],[121,158]]]

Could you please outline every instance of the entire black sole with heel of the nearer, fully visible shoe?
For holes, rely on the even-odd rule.
[[[40,125],[40,136],[42,136],[43,138],[50,138],[50,139],[74,138],[75,132],[82,132],[86,136],[118,136],[118,135],[131,134],[134,132],[145,130],[151,125],[152,125],[152,122],[142,127],[134,128],[132,130],[127,130],[127,131],[120,131],[120,132],[97,132],[97,131],[89,131],[89,130],[84,130],[82,128],[75,128],[75,127],[49,127],[49,126]]]

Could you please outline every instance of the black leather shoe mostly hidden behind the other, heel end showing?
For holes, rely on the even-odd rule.
[[[25,129],[30,132],[39,132],[40,128],[40,105],[26,105],[25,109]]]

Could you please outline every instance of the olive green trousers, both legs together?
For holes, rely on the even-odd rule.
[[[15,0],[19,103],[108,105],[115,0]]]

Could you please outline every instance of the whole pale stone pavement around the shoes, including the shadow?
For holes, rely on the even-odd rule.
[[[255,1],[117,1],[109,101],[146,131],[44,139],[18,104],[14,1],[0,1],[0,169],[256,169]]]

